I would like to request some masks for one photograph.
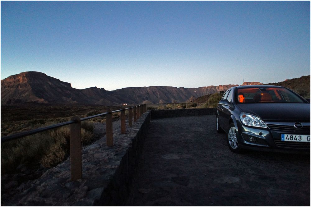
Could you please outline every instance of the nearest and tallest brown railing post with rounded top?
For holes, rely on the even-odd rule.
[[[79,117],[72,117],[75,123],[70,125],[70,168],[71,181],[82,178],[81,159],[81,120]]]

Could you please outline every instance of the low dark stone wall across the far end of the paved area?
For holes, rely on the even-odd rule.
[[[170,117],[189,117],[216,115],[216,108],[191,108],[191,109],[167,109],[151,110],[151,119],[170,118]]]

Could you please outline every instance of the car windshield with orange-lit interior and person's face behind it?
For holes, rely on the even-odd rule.
[[[253,103],[304,103],[296,94],[286,88],[254,87],[238,89],[237,104]]]

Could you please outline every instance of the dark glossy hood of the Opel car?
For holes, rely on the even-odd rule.
[[[263,121],[310,122],[310,104],[238,104],[241,112],[259,116]]]

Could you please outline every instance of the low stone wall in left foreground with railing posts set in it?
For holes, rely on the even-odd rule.
[[[146,112],[132,127],[127,123],[126,134],[121,134],[120,124],[114,122],[113,147],[106,146],[106,136],[83,147],[82,179],[71,181],[68,158],[40,178],[23,183],[15,195],[6,195],[10,198],[1,205],[122,205],[128,197],[149,123],[150,112]]]

